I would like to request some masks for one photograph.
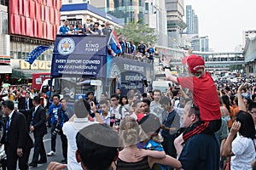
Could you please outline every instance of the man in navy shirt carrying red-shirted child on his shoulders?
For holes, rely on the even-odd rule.
[[[182,118],[184,127],[189,127],[200,120],[200,111],[195,111],[191,100],[185,105]],[[219,169],[219,148],[219,141],[213,132],[195,134],[183,145],[178,161],[185,170],[217,170]]]

